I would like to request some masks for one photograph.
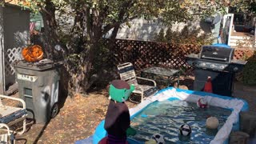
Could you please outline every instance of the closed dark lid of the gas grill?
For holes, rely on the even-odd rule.
[[[226,48],[221,46],[202,46],[202,50],[199,54],[199,58],[219,62],[231,62],[233,56],[233,48]]]

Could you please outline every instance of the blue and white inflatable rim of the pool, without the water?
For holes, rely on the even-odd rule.
[[[143,110],[146,110],[150,105],[154,105],[154,102],[165,102],[179,100],[183,102],[198,102],[199,98],[206,99],[210,106],[217,106],[222,109],[230,110],[230,115],[226,117],[222,127],[218,129],[217,134],[210,140],[210,143],[228,143],[228,138],[231,130],[239,130],[239,113],[240,111],[249,110],[246,101],[238,98],[230,98],[217,94],[210,94],[205,92],[193,91],[193,90],[180,90],[173,87],[160,90],[157,94],[146,98],[145,101],[138,106],[130,109],[131,121],[142,114]],[[90,137],[90,142],[97,144],[102,138],[106,137],[106,130],[104,130],[104,121],[102,121],[96,128],[95,133]],[[131,144],[144,143],[135,140],[134,138],[128,138],[127,140]],[[76,143],[83,143],[78,141]]]

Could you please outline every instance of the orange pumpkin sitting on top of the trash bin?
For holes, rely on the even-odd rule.
[[[43,58],[42,47],[38,45],[28,46],[22,50],[22,57],[27,62],[37,62]]]

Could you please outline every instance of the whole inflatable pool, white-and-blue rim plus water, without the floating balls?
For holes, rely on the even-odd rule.
[[[202,97],[207,98],[210,105],[212,105],[209,109],[202,110],[196,106],[196,103],[190,103],[196,102],[198,98]],[[163,101],[165,99],[169,100]],[[187,102],[183,102],[181,99],[186,99]],[[226,109],[229,110],[220,107],[226,107]],[[230,110],[232,110],[232,113]],[[228,143],[231,130],[239,130],[240,111],[247,110],[249,110],[248,103],[242,99],[202,91],[180,90],[169,87],[160,90],[158,94],[147,98],[138,106],[130,109],[131,125],[138,129],[138,134],[134,136],[137,140],[128,138],[127,141],[130,142],[130,144],[142,144],[148,140],[152,134],[160,133],[165,135],[166,144],[209,142],[226,144]],[[219,119],[220,126],[218,126],[217,131],[206,130],[205,122],[206,118],[209,116],[215,116]],[[227,117],[228,121],[225,122]],[[143,122],[146,122],[146,125],[144,125]],[[190,138],[178,137],[178,128],[183,122],[187,122],[192,127],[193,132]],[[224,122],[225,124],[223,124]],[[107,135],[104,129],[104,123],[104,120],[99,123],[92,138],[82,139],[75,143],[83,144],[86,141],[88,144],[98,144],[98,142]],[[216,136],[214,137],[215,134]],[[214,140],[210,141],[212,139]]]

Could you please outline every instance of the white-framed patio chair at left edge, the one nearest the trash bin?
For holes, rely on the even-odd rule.
[[[22,103],[22,107],[6,106],[2,104],[2,98]],[[0,130],[11,131],[12,133],[23,134],[26,131],[26,103],[21,98],[13,98],[0,94]],[[22,122],[23,121],[23,122]],[[10,126],[22,122],[22,130],[10,130]],[[6,128],[8,126],[8,128]],[[17,126],[16,126],[17,127]]]

